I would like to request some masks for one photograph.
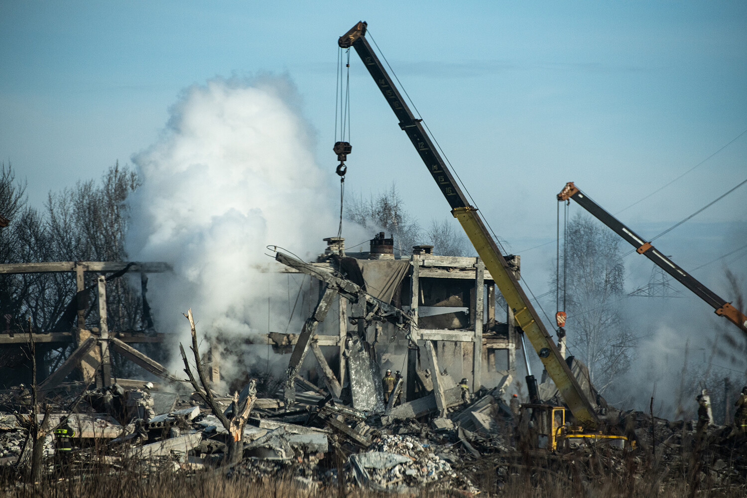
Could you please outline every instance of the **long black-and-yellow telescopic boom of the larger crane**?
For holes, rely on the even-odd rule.
[[[560,395],[565,400],[577,423],[587,431],[601,429],[601,422],[589,399],[586,398],[570,368],[568,368],[565,358],[562,357],[552,337],[542,324],[539,314],[537,314],[521,285],[509,269],[506,259],[503,258],[495,240],[489,234],[480,218],[480,214],[477,212],[477,208],[469,204],[464,193],[454,181],[443,158],[433,146],[433,142],[421,124],[421,119],[416,119],[409,110],[399,90],[394,86],[394,81],[391,80],[379,61],[379,57],[376,57],[373,53],[373,49],[365,38],[366,27],[365,22],[359,22],[340,37],[338,45],[343,49],[349,49],[350,47],[356,49],[366,69],[371,73],[373,81],[376,81],[391,110],[400,120],[400,128],[406,132],[433,179],[436,180],[441,193],[444,194],[451,206],[451,213],[462,224],[462,228],[464,228],[474,249],[477,250],[477,254],[483,259],[485,267],[492,275],[495,284],[503,294],[503,298],[511,306],[516,323],[521,327],[524,335],[539,355],[542,364],[545,365],[545,370],[560,391]]]

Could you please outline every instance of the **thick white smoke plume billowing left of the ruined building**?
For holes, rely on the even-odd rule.
[[[129,199],[126,248],[133,261],[173,266],[150,276],[148,292],[156,328],[175,336],[173,360],[178,341],[189,343],[187,308],[201,335],[250,338],[268,323],[283,332],[297,287],[271,271],[266,246],[308,259],[336,234],[335,194],[299,102],[286,77],[212,79],[185,90],[160,139],[133,158],[142,186]]]

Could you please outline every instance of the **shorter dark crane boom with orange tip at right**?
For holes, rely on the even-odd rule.
[[[747,316],[745,316],[745,314],[737,308],[734,308],[730,302],[726,302],[725,299],[716,295],[713,290],[710,290],[704,284],[701,284],[701,282],[696,280],[692,275],[675,264],[675,262],[659,252],[654,246],[651,246],[651,242],[645,242],[645,239],[640,237],[633,230],[630,230],[630,228],[627,228],[627,226],[623,225],[620,220],[613,217],[612,214],[608,213],[604,208],[594,202],[591,197],[581,192],[574,182],[569,181],[565,184],[565,187],[563,187],[557,195],[557,199],[559,202],[573,199],[578,205],[586,209],[586,211],[589,211],[589,213],[597,220],[603,222],[605,225],[612,228],[616,234],[624,238],[624,240],[627,240],[627,242],[636,249],[638,254],[642,254],[650,259],[655,265],[657,265],[657,267],[660,267],[666,273],[669,273],[669,275],[674,277],[678,282],[691,290],[695,296],[698,296],[711,305],[717,315],[726,317],[731,323],[734,323],[734,325],[742,329],[743,332],[747,332]]]

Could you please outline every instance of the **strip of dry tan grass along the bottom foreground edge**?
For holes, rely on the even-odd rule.
[[[93,470],[93,469],[90,469]],[[495,485],[493,476],[486,469],[485,481],[481,485]],[[2,498],[286,498],[286,497],[339,497],[338,488],[320,487],[315,491],[300,488],[290,476],[265,476],[260,481],[247,477],[227,477],[219,470],[206,470],[199,473],[161,472],[143,473],[137,468],[107,469],[96,473],[81,474],[72,478],[60,475],[50,476],[43,484],[6,483]],[[393,497],[358,489],[351,489],[347,498]],[[441,498],[468,496],[457,492],[422,490],[417,494],[404,495],[408,498]],[[571,476],[553,472],[532,472],[509,476],[498,486],[495,494],[481,494],[482,497],[511,498],[577,498],[577,497],[619,497],[619,498],[675,498],[675,497],[744,497],[743,489],[710,488],[692,493],[686,482],[675,483],[663,488],[654,476],[641,479],[613,479],[610,477],[594,482],[581,482]]]

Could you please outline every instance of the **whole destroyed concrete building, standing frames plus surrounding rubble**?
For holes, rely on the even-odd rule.
[[[318,282],[311,290],[316,306],[298,333],[260,336],[261,343],[274,346],[276,358],[288,362],[287,379],[272,396],[252,399],[241,431],[241,460],[227,467],[227,475],[255,480],[285,476],[299,488],[320,493],[361,487],[474,495],[494,492],[525,472],[530,456],[520,442],[533,429],[527,420],[515,418],[506,396],[515,377],[518,331],[510,310],[509,323],[495,320],[495,283],[480,258],[434,255],[430,246],[416,246],[412,255],[395,258],[394,241],[384,234],[373,237],[368,252],[345,252],[340,237],[326,242],[326,251],[311,263],[276,253],[282,264],[277,271],[306,273]],[[518,272],[518,257],[511,261]],[[40,268],[71,276],[168,270],[164,264],[93,262],[0,270]],[[99,302],[105,303],[105,292],[106,277],[99,276]],[[77,321],[81,308],[73,309],[75,325],[84,323]],[[22,470],[28,465],[32,418],[46,424],[40,441],[46,461],[57,462],[50,468],[61,474],[54,475],[85,472],[81,463],[96,446],[105,448],[103,464],[114,472],[122,472],[127,461],[140,462],[138,475],[164,469],[194,473],[223,464],[232,437],[218,415],[230,415],[232,405],[249,396],[247,388],[234,399],[214,393],[219,408],[205,407],[199,385],[185,391],[182,379],[128,344],[162,342],[163,335],[110,330],[105,304],[99,311],[99,327],[90,331],[32,331],[42,348],[58,343],[76,347],[56,367],[40,368],[39,391],[49,393],[47,409],[52,410],[46,421],[40,408],[32,408],[28,388],[0,393],[5,412],[0,414],[0,466]],[[325,322],[329,316],[335,320]],[[28,333],[0,334],[0,343],[28,347]],[[145,379],[121,379],[106,368],[110,348],[161,382],[149,388],[143,386]],[[220,349],[213,349],[208,362],[198,361],[208,385],[220,379]],[[402,373],[387,405],[381,385],[385,369]],[[82,381],[63,382],[76,370]],[[317,384],[306,375],[315,370]],[[457,386],[461,378],[468,379],[474,399],[462,397]],[[93,388],[94,382],[98,387]],[[551,383],[540,387],[542,399],[557,397]],[[143,399],[155,416],[143,410]],[[52,435],[61,426],[75,434],[63,464],[55,456],[60,440]],[[701,433],[689,421],[669,423],[633,411],[614,411],[613,426],[637,445],[601,450],[567,440],[562,451],[586,462],[572,469],[567,460],[547,452],[531,458],[554,473],[571,473],[574,479],[580,475],[589,485],[599,479],[595,466],[600,464],[609,479],[643,482],[646,476],[657,486],[678,486],[683,468],[697,478],[687,483],[691,488],[700,482],[734,489],[747,485],[744,435],[731,427],[710,426]],[[493,473],[490,485],[485,484],[486,468]]]

